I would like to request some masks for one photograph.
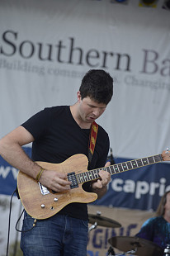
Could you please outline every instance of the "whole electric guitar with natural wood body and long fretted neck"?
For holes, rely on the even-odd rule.
[[[21,203],[27,213],[35,219],[42,220],[54,216],[54,214],[63,209],[64,206],[72,202],[89,203],[95,201],[97,194],[94,192],[85,192],[82,186],[83,183],[100,178],[100,170],[104,170],[112,175],[168,160],[170,160],[170,152],[168,153],[167,150],[163,151],[163,154],[156,154],[144,159],[136,159],[88,171],[87,157],[84,154],[75,154],[61,164],[36,162],[42,168],[55,170],[59,173],[66,173],[68,180],[71,182],[70,190],[65,192],[53,192],[21,171],[19,171],[17,177],[17,188]]]

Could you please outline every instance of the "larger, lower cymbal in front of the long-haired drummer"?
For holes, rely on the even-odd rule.
[[[163,249],[153,242],[137,236],[115,236],[108,239],[109,244],[122,252],[136,250],[139,256],[163,256]]]

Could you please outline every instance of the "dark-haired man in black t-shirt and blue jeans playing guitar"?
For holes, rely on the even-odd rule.
[[[99,170],[98,178],[83,183],[84,193],[79,193],[78,184],[74,186],[66,171],[72,165],[79,168],[78,159],[82,155],[86,155],[83,169],[101,168],[106,164],[109,137],[102,126],[92,128],[92,124],[96,125],[95,120],[106,110],[112,94],[113,79],[110,74],[102,69],[92,69],[85,74],[73,106],[47,107],[0,140],[0,154],[20,170],[18,188],[21,202],[26,210],[27,207],[35,208],[32,215],[30,211],[25,211],[21,233],[24,256],[87,255],[88,216],[84,193],[91,192],[90,201],[102,197],[111,175]],[[97,135],[95,141],[92,129],[94,136]],[[21,146],[31,142],[30,159]],[[76,158],[70,158],[72,155]],[[53,164],[59,164],[59,170],[58,165]],[[26,184],[24,179],[28,181]],[[32,183],[38,188],[32,187]],[[50,209],[47,201],[39,203],[40,199],[36,200],[38,194],[40,198],[47,199],[53,196]],[[33,205],[27,203],[27,197],[31,197]],[[56,211],[58,202],[59,211]]]

